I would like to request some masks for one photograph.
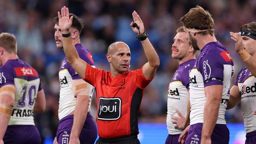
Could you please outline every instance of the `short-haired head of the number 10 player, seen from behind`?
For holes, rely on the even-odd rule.
[[[0,34],[0,47],[4,48],[9,53],[17,54],[17,41],[11,33]]]

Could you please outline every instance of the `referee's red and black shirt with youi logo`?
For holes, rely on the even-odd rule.
[[[113,78],[109,71],[87,64],[84,80],[96,90],[99,137],[118,138],[139,134],[137,114],[145,87],[152,79],[144,77],[142,68],[128,70]]]

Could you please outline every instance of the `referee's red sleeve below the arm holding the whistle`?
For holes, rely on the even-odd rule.
[[[142,72],[142,68],[143,67],[141,67],[138,70],[132,71],[132,77],[133,77],[134,82],[137,85],[137,87],[139,87],[141,89],[145,89],[154,77],[151,79],[145,78],[145,76],[143,75],[143,72]]]

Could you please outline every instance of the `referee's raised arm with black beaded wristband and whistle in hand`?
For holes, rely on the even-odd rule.
[[[132,17],[134,19],[134,22],[131,22],[130,26],[132,27],[134,23],[136,23],[139,26],[139,30],[136,27],[132,27],[132,30],[137,35],[139,35],[139,33],[142,34],[145,31],[145,29],[141,18],[139,17],[136,11],[132,13]],[[141,44],[148,59],[148,62],[143,66],[142,72],[145,78],[150,79],[156,74],[156,70],[160,65],[160,60],[148,38],[144,41],[141,41]]]

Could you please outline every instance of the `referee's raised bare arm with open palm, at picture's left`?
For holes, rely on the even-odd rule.
[[[70,63],[72,68],[78,73],[81,78],[85,77],[85,70],[87,63],[80,59],[78,53],[76,52],[76,48],[72,43],[72,39],[70,37],[70,27],[72,25],[73,16],[69,18],[69,9],[67,7],[61,8],[61,13],[58,11],[59,17],[59,27],[62,32],[62,42],[63,49],[65,55],[67,56],[67,61]]]

